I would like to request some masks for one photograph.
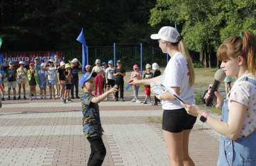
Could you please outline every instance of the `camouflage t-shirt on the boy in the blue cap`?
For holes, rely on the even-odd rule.
[[[102,136],[98,103],[91,102],[93,94],[84,93],[81,98],[83,109],[83,132],[85,137]]]

